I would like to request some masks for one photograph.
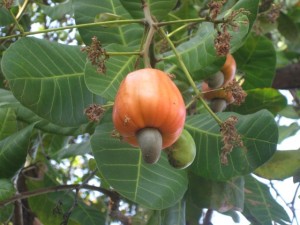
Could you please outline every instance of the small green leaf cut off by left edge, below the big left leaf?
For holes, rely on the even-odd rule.
[[[0,140],[17,131],[16,114],[12,108],[0,108]]]

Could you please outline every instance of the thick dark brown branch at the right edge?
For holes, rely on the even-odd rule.
[[[300,88],[300,63],[277,69],[272,87],[287,90]]]

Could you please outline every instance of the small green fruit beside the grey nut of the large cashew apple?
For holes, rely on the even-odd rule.
[[[185,169],[191,165],[196,157],[196,144],[187,130],[183,130],[177,141],[164,149],[171,166]]]

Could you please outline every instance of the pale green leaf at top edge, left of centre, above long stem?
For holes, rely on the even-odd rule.
[[[39,4],[44,13],[49,16],[52,20],[60,20],[62,19],[66,14],[72,15],[72,1],[67,0],[63,3],[56,4],[54,6],[48,6]]]

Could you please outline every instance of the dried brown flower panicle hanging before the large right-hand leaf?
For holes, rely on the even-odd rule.
[[[237,132],[235,125],[238,122],[236,116],[230,116],[221,125],[221,135],[222,135],[222,152],[221,152],[221,163],[224,165],[228,164],[228,154],[232,151],[234,147],[244,147],[241,135]]]

